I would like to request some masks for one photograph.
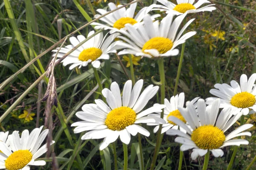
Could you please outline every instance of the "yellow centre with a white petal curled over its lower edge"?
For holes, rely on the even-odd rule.
[[[164,54],[172,49],[172,45],[172,40],[169,38],[154,37],[144,44],[142,51],[144,52],[145,49],[156,49],[160,54]]]

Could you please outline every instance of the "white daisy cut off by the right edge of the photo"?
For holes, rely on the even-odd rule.
[[[221,108],[231,107],[233,115],[243,112],[244,115],[256,112],[256,73],[247,80],[246,75],[241,75],[240,85],[236,81],[228,84],[215,84],[216,89],[211,89],[210,93],[221,100]],[[216,98],[207,98],[206,104],[212,104]]]

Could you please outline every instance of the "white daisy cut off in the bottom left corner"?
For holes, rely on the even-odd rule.
[[[14,131],[11,138],[8,137],[10,146],[0,141],[0,169],[4,170],[29,170],[28,165],[45,165],[45,161],[35,161],[36,158],[47,152],[47,144],[41,148],[40,145],[46,138],[49,130],[41,133],[43,126],[32,130],[29,135],[28,130],[24,130],[20,135]],[[10,136],[10,135],[9,135]],[[53,144],[54,141],[51,142]]]

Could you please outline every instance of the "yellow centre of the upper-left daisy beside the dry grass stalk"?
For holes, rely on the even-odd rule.
[[[91,48],[88,48],[88,49],[84,49],[80,53],[78,59],[80,61],[88,61],[88,60],[95,61],[101,55],[102,55],[102,50],[101,49],[91,47]]]

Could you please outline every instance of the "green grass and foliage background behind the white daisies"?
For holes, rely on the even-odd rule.
[[[9,16],[4,3],[0,2],[0,82],[13,75],[17,70],[21,69],[26,63],[35,56],[39,55],[44,50],[48,49],[61,38],[73,32],[77,28],[83,26],[88,20],[93,19],[96,14],[96,9],[106,8],[108,2],[128,3],[129,1],[108,1],[104,3],[93,0],[11,0],[11,9],[13,18]],[[143,0],[138,3],[137,11],[143,6],[149,6],[152,0]],[[186,42],[186,49],[183,61],[183,67],[180,76],[178,92],[185,92],[186,100],[200,96],[207,98],[210,96],[209,90],[216,83],[227,83],[231,80],[239,81],[241,74],[250,76],[256,72],[255,68],[255,44],[256,44],[256,2],[254,0],[220,0],[212,1],[216,3],[217,10],[213,12],[204,12],[189,14],[189,18],[196,20],[189,27],[189,31],[197,31],[197,35],[190,38]],[[79,11],[79,9],[83,9]],[[10,9],[9,9],[10,10]],[[162,17],[164,14],[158,11]],[[152,14],[152,13],[151,13]],[[159,20],[161,18],[158,18]],[[13,23],[17,27],[13,26]],[[247,24],[247,26],[245,26]],[[79,34],[87,35],[93,30],[91,26],[81,30]],[[224,40],[211,36],[212,32],[224,31]],[[17,37],[17,32],[20,32],[20,37]],[[106,33],[106,32],[105,32]],[[76,34],[78,35],[78,34]],[[210,44],[209,44],[210,42]],[[68,44],[69,42],[67,42]],[[22,46],[23,44],[23,46]],[[210,46],[215,46],[210,49]],[[179,46],[181,48],[181,46]],[[24,72],[19,74],[14,81],[0,91],[0,115],[8,109],[13,102],[46,70],[51,61],[51,53],[47,53],[40,58],[34,65],[30,66]],[[123,61],[123,60],[122,60]],[[105,62],[106,63],[106,62]],[[126,61],[123,61],[126,66]],[[140,60],[139,66],[134,66],[137,79],[143,79],[144,85],[152,84],[152,76],[154,80],[159,81],[157,62],[147,58]],[[175,78],[177,75],[177,66],[179,57],[171,57],[165,59],[166,70],[166,98],[170,98],[173,94]],[[109,63],[108,63],[109,64]],[[108,67],[103,66],[103,73],[108,74]],[[129,73],[129,70],[127,69]],[[111,72],[112,81],[122,84],[128,80],[123,73],[122,67],[116,60],[115,56],[111,56]],[[100,74],[102,75],[102,74]],[[79,77],[78,77],[79,76]],[[102,79],[104,77],[102,76]],[[91,66],[81,69],[73,69],[70,71],[67,67],[55,67],[55,79],[57,84],[58,109],[53,109],[54,130],[53,138],[59,135],[58,141],[55,144],[55,154],[58,160],[58,165],[62,169],[67,169],[67,166],[72,160],[73,149],[78,145],[79,153],[73,161],[71,169],[108,169],[105,162],[111,164],[113,169],[113,151],[110,145],[109,151],[99,152],[99,143],[101,140],[79,141],[79,134],[73,133],[73,128],[70,124],[78,119],[73,116],[67,124],[67,130],[60,133],[61,123],[58,115],[63,114],[64,119],[71,112],[81,110],[81,105],[92,103],[94,99],[101,98],[99,93],[89,92],[96,86],[96,80],[92,74]],[[38,92],[38,86],[34,88],[24,98],[20,104],[9,114],[1,123],[1,130],[13,131],[19,130],[22,132],[25,129],[32,130],[36,126],[36,116],[30,122],[24,122],[18,116],[23,113],[23,110],[37,113],[37,100],[41,98],[47,88],[47,79],[42,82],[42,92]],[[105,83],[105,87],[109,84]],[[89,94],[89,95],[88,95]],[[88,98],[85,98],[88,95]],[[153,98],[150,104],[159,103],[159,98]],[[81,101],[84,100],[83,103]],[[45,102],[40,101],[39,108],[40,119],[39,124],[44,124],[44,106]],[[256,118],[251,115],[246,117],[247,123],[255,124]],[[236,126],[238,126],[236,124]],[[233,127],[234,128],[236,128]],[[145,166],[148,168],[151,163],[151,158],[154,152],[154,143],[156,136],[153,133],[152,127],[147,127],[150,130],[150,137],[142,138],[143,156]],[[233,169],[245,169],[250,164],[252,158],[256,154],[255,132],[254,128],[250,130],[252,133],[248,146],[242,146],[236,155],[235,165]],[[71,135],[71,142],[67,140],[67,132]],[[179,145],[174,143],[174,138],[164,135],[161,154],[158,156],[159,169],[175,170],[179,160]],[[140,169],[139,161],[136,153],[137,138],[131,139],[131,144],[128,146],[129,152],[129,168]],[[122,143],[116,142],[117,157],[119,168],[122,168],[123,153]],[[210,156],[209,168],[224,170],[227,168],[228,162],[232,155],[232,147],[224,148],[224,156],[222,158],[213,158]],[[183,169],[185,170],[200,170],[204,158],[198,158],[196,161],[190,160],[190,153],[184,152],[185,162]],[[80,158],[79,158],[80,157]],[[81,159],[82,164],[79,164]],[[51,162],[51,159],[48,159]],[[104,163],[104,164],[102,164]],[[185,164],[186,163],[186,164]],[[41,169],[50,169],[51,163]],[[38,167],[32,167],[38,168]],[[253,165],[252,170],[256,169]]]

